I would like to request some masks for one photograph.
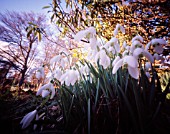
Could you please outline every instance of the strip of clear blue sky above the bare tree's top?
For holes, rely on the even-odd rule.
[[[49,6],[52,0],[0,0],[0,13],[9,11],[33,11],[35,13],[47,13],[49,9],[42,9]]]

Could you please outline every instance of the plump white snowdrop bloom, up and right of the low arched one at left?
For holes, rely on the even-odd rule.
[[[61,75],[59,81],[61,84],[65,82],[67,86],[70,84],[73,86],[79,78],[79,73],[77,70],[67,70],[63,75]]]

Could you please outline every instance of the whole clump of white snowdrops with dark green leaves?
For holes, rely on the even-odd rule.
[[[34,129],[42,131],[37,122],[51,120],[50,127],[63,133],[150,132],[168,90],[162,92],[154,69],[155,60],[163,62],[160,54],[167,43],[152,39],[144,44],[136,35],[130,44],[121,44],[120,32],[125,29],[117,24],[114,36],[102,43],[89,27],[74,36],[87,52],[83,60],[73,63],[71,53],[63,51],[51,59],[46,76],[44,67],[33,69],[46,81],[36,94],[44,101],[24,116],[22,128],[34,122]],[[49,109],[56,116],[48,116]]]

